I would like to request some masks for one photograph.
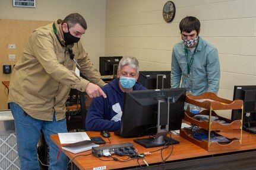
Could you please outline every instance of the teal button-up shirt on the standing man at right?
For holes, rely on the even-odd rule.
[[[194,54],[194,60],[188,74],[188,63]],[[182,79],[182,82],[181,82]],[[171,87],[187,88],[192,95],[203,92],[217,94],[220,82],[220,63],[216,47],[199,37],[194,52],[188,49],[188,59],[183,41],[175,44],[172,50]]]

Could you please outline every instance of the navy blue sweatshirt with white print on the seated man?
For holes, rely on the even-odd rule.
[[[124,105],[124,92],[118,85],[116,78],[110,84],[102,87],[107,98],[102,96],[94,98],[86,116],[86,130],[90,131],[115,131],[121,129],[121,116]],[[133,90],[147,89],[136,82]]]

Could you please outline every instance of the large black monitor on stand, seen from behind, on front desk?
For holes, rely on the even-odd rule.
[[[185,94],[185,88],[125,92],[119,135],[135,137],[156,134],[153,139],[134,141],[144,147],[166,145],[167,133],[181,129]],[[179,142],[172,140],[172,143]]]

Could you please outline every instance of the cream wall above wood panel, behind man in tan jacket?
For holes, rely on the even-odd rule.
[[[99,69],[99,56],[105,54],[105,0],[37,0],[36,8],[12,7],[12,0],[0,0],[0,19],[55,21],[73,12],[86,19],[88,29],[81,41]]]

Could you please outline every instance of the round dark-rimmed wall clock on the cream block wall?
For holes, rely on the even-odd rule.
[[[170,23],[175,17],[175,5],[172,1],[168,1],[163,6],[163,19]]]

